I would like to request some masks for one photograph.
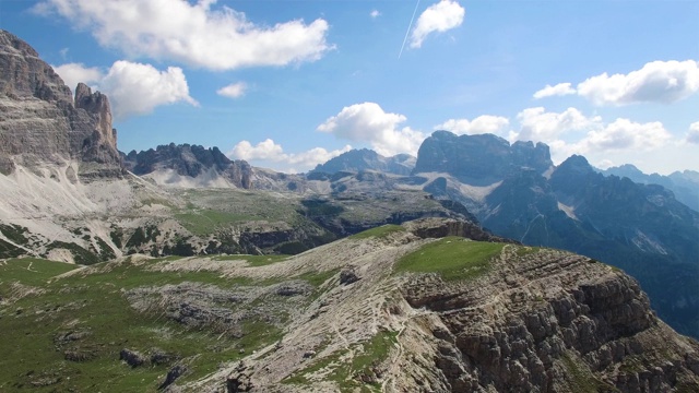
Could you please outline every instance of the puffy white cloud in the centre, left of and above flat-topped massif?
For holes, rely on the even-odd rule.
[[[408,127],[399,130],[398,126],[405,120],[405,116],[386,112],[376,103],[363,103],[342,108],[340,114],[318,126],[318,131],[350,141],[368,142],[384,156],[399,153],[415,155],[426,136]]]

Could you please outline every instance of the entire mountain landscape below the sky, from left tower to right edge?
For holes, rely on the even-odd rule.
[[[692,172],[448,131],[308,174],[125,154],[4,31],[0,112],[2,391],[699,390]]]

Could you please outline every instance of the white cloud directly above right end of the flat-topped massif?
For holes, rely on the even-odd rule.
[[[548,112],[543,107],[528,108],[517,115],[520,131],[516,139],[553,144],[569,131],[580,131],[597,127],[602,118],[587,117],[576,108],[568,108],[560,114]]]

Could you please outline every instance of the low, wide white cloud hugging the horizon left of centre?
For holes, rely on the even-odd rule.
[[[305,171],[351,150],[351,145],[345,145],[343,148],[333,151],[328,151],[323,147],[313,147],[301,153],[284,153],[282,145],[271,139],[266,139],[256,145],[252,145],[248,141],[240,141],[228,152],[228,157],[249,162],[262,162],[275,166],[277,169],[282,169],[280,167],[280,165],[282,165],[286,171]]]

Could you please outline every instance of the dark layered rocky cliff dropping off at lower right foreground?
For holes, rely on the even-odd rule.
[[[422,277],[403,288],[412,307],[439,315],[440,391],[699,386],[699,345],[657,320],[632,278],[559,251],[516,254],[474,285]]]

